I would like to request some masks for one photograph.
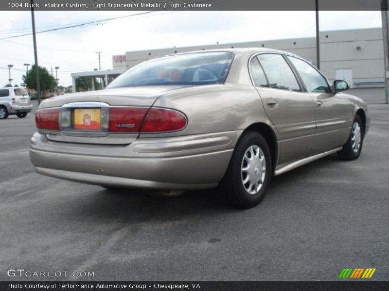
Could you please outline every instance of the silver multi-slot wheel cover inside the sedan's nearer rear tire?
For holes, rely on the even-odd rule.
[[[243,187],[250,195],[257,194],[264,184],[266,173],[265,155],[259,146],[250,146],[243,156],[241,178]]]

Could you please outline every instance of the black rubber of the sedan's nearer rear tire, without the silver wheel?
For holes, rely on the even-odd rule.
[[[248,184],[243,183],[244,173],[242,172],[242,167],[244,166],[244,156],[246,155],[248,149],[251,146],[258,146],[263,153],[265,158],[265,177],[263,178],[262,186],[260,190],[255,194],[249,194],[246,188],[250,189]],[[254,151],[254,153],[256,153]],[[262,156],[260,154],[259,156]],[[256,166],[257,165],[257,166]],[[253,164],[251,167],[252,171],[258,170],[258,162]],[[259,175],[262,176],[262,171]],[[252,172],[253,175],[258,175],[258,173]],[[272,175],[272,163],[269,147],[267,146],[266,140],[264,137],[254,131],[248,131],[240,139],[238,144],[235,146],[234,152],[231,157],[229,167],[227,169],[226,175],[219,184],[219,195],[223,199],[226,199],[227,202],[235,207],[239,208],[251,208],[258,205],[261,200],[264,198],[267,187],[269,185]],[[247,178],[248,174],[246,174]],[[259,176],[256,176],[259,177]],[[252,191],[255,191],[252,189]]]

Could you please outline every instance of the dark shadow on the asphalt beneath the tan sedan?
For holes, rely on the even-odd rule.
[[[315,175],[315,171],[335,166],[336,155],[324,157],[318,161],[303,165],[297,169],[274,177],[269,186],[268,193],[263,202],[251,210],[262,211],[266,207],[266,200],[283,199],[283,191],[294,187],[296,183]],[[283,190],[283,191],[279,191]],[[280,192],[280,193],[279,193]],[[100,219],[120,218],[127,222],[143,222],[153,220],[177,220],[177,218],[188,218],[198,215],[225,215],[239,213],[241,209],[235,209],[220,200],[216,189],[189,191],[179,196],[167,197],[158,195],[156,191],[130,190],[130,189],[104,189],[97,188],[97,191],[84,197],[81,201],[74,199],[72,211],[76,216],[85,218],[99,217]],[[266,199],[272,197],[270,199]],[[273,202],[269,202],[273,203]]]

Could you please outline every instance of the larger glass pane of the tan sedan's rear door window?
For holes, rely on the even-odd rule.
[[[301,88],[292,69],[280,54],[260,54],[258,60],[264,68],[270,88],[299,91]]]

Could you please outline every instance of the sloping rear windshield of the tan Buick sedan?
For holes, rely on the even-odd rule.
[[[112,81],[108,88],[224,83],[232,59],[231,52],[199,52],[162,57],[128,69]]]

